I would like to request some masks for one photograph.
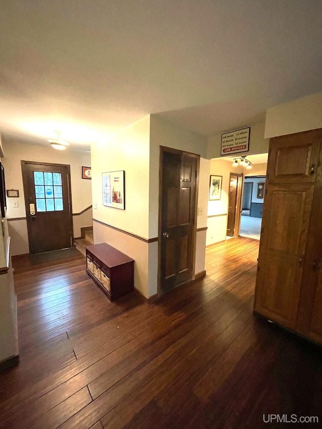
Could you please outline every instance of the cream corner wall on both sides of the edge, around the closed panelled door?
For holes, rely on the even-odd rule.
[[[157,293],[159,146],[205,156],[206,139],[148,115],[92,145],[94,242],[107,241],[135,260],[134,286],[145,297]],[[197,227],[206,226],[210,161],[200,160]],[[102,173],[125,170],[125,210],[103,206]],[[95,206],[97,205],[97,208]],[[140,240],[108,225],[142,237]],[[205,233],[197,233],[196,270],[204,270]],[[202,269],[201,269],[202,267]],[[196,271],[196,272],[199,272]]]

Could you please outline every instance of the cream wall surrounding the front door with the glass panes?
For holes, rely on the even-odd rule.
[[[7,189],[18,189],[19,198],[7,199],[7,217],[26,217],[24,189],[22,181],[21,160],[53,162],[70,165],[71,200],[73,213],[79,213],[92,204],[91,180],[82,179],[82,166],[91,166],[90,153],[74,152],[70,148],[59,152],[51,147],[40,147],[17,142],[3,142],[3,164],[6,173]],[[18,201],[19,207],[13,207],[13,201]],[[85,216],[79,216],[74,225],[74,236],[80,236],[80,228],[91,226],[92,219],[89,211]],[[75,216],[73,216],[75,218]],[[9,233],[12,237],[12,255],[29,252],[26,220],[9,221]]]

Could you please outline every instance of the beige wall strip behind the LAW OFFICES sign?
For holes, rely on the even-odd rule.
[[[258,153],[267,153],[269,140],[264,138],[264,129],[265,123],[261,122],[259,124],[255,124],[251,126],[251,134],[250,134],[250,145],[249,151],[241,152],[236,154],[236,156],[247,156],[254,155]],[[229,131],[229,130],[224,130]],[[219,158],[221,151],[221,134],[215,134],[209,136],[207,139],[207,158]],[[232,156],[231,154],[228,156]],[[221,159],[224,159],[224,156],[221,156]]]

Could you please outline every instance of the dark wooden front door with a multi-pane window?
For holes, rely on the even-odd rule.
[[[21,162],[30,253],[71,247],[69,165]]]

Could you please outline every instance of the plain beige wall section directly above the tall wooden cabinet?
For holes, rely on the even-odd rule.
[[[267,109],[265,138],[322,128],[322,92]]]

